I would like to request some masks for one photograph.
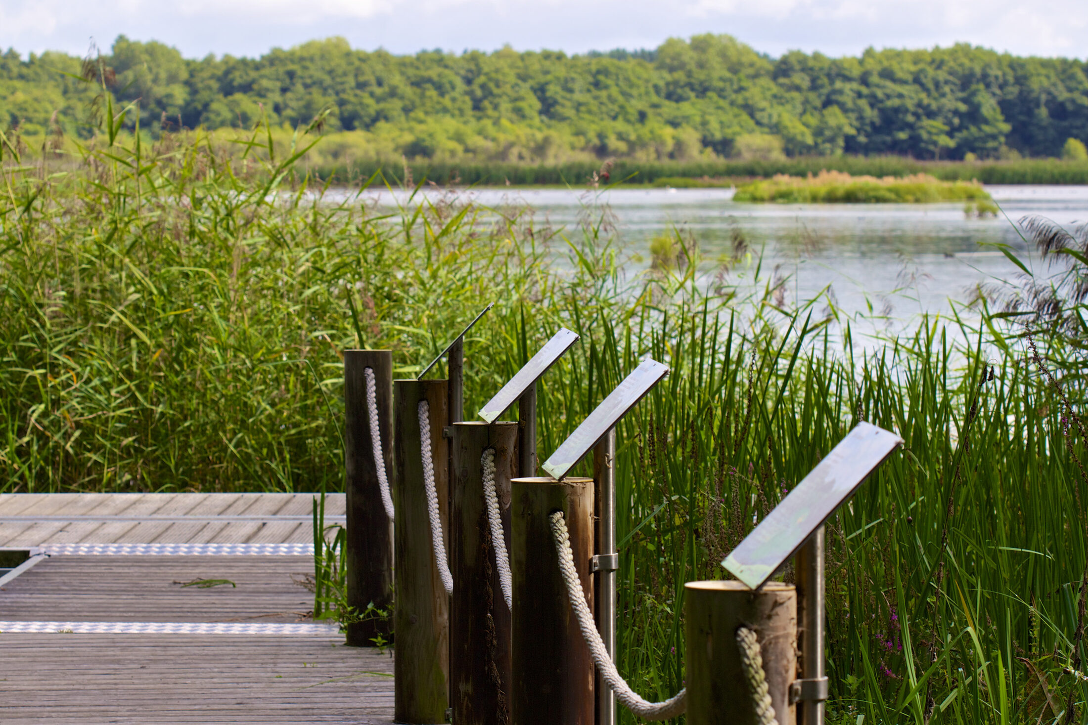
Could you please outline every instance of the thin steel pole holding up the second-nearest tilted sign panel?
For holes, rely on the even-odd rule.
[[[595,597],[597,632],[608,657],[616,658],[616,570],[610,554],[616,552],[616,428],[601,437],[593,449],[594,509],[596,509],[596,573]],[[603,557],[606,555],[607,558]],[[616,693],[597,673],[596,725],[615,725]]]

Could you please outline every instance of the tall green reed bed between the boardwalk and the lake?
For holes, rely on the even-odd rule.
[[[296,172],[308,138],[5,171],[0,492],[335,490],[341,352],[391,348],[411,375],[495,300],[468,411],[559,325],[582,336],[541,386],[545,453],[644,355],[671,367],[619,430],[618,665],[640,693],[683,686],[683,583],[722,577],[869,421],[906,445],[828,523],[829,721],[1084,722],[1083,392],[1042,372],[1056,347],[1034,361],[993,320],[953,322],[956,348],[934,320],[864,353],[679,237],[625,276],[593,196],[569,229],[453,196],[387,213]]]

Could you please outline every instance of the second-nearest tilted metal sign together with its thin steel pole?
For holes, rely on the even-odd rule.
[[[594,451],[594,509],[597,525],[594,545],[596,554],[590,570],[596,574],[594,618],[608,657],[616,653],[616,424],[665,377],[669,368],[646,359],[623,378],[615,390],[597,405],[574,433],[544,463],[544,471],[561,479],[582,458]],[[601,676],[596,682],[596,725],[614,725],[616,696]]]

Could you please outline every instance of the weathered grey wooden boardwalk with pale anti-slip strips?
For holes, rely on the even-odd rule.
[[[0,720],[391,723],[391,653],[309,620],[310,502],[0,496],[0,547],[50,554],[0,585]],[[330,496],[326,523],[343,515]]]

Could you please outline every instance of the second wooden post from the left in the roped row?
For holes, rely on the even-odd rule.
[[[394,380],[393,440],[397,472],[393,501],[395,529],[396,615],[394,720],[433,725],[446,722],[449,674],[449,598],[438,577],[431,541],[420,454],[419,402],[426,400],[431,417],[431,455],[438,495],[442,530],[449,530],[446,380]],[[448,538],[448,536],[446,537]]]

